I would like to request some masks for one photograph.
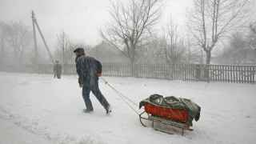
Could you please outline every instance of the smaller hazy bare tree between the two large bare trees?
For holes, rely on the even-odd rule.
[[[161,35],[153,34],[145,48],[139,50],[139,62],[177,64],[195,62],[194,50],[189,40],[185,40],[178,26],[171,20],[162,28]]]

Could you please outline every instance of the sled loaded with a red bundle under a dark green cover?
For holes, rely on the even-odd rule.
[[[164,98],[162,95],[153,94],[149,98],[139,103],[139,108],[144,107],[144,111],[139,115],[142,126],[146,126],[142,119],[152,122],[160,122],[166,126],[174,126],[184,130],[192,130],[193,120],[198,121],[200,118],[201,107],[187,98],[176,98],[174,96]],[[143,117],[143,114],[147,117]],[[155,128],[156,129],[156,128]],[[156,129],[160,130],[160,129]],[[160,130],[169,133],[166,130]]]

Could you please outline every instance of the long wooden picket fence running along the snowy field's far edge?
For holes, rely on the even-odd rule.
[[[104,63],[103,75],[110,77],[162,78],[183,81],[256,83],[256,66],[197,64]],[[19,72],[51,74],[52,65],[22,66]],[[6,71],[14,71],[10,67]],[[17,71],[17,70],[15,70]],[[75,74],[74,65],[64,66],[65,74]]]

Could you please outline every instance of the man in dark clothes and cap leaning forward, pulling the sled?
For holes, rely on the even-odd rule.
[[[102,64],[95,58],[86,56],[83,48],[74,50],[76,54],[75,62],[78,73],[78,83],[82,87],[82,98],[86,104],[85,113],[94,111],[93,105],[90,101],[90,91],[93,92],[98,101],[106,110],[106,114],[111,112],[110,104],[106,101],[102,92],[98,87],[98,77],[102,76]]]

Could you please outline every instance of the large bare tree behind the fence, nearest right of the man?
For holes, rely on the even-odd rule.
[[[136,50],[141,47],[161,15],[160,0],[111,2],[113,22],[102,31],[102,38],[120,50],[134,65]]]

